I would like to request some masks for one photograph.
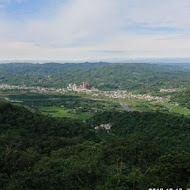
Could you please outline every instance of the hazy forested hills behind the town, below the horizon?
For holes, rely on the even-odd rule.
[[[83,81],[103,90],[140,92],[189,87],[190,70],[153,64],[1,64],[0,83],[66,87]]]

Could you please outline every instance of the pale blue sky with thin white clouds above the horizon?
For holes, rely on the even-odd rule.
[[[190,57],[190,0],[0,0],[0,60]]]

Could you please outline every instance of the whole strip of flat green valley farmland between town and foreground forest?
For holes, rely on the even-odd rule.
[[[52,117],[72,117],[82,120],[88,119],[97,112],[123,111],[120,103],[128,105],[132,111],[182,114],[190,116],[190,110],[182,105],[175,106],[172,102],[157,103],[139,99],[110,99],[107,97],[92,97],[85,94],[37,94],[23,91],[6,91],[0,93],[0,100],[5,98],[13,101],[22,101],[20,106],[41,112]]]

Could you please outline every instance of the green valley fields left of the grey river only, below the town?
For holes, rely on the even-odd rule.
[[[5,97],[6,96],[4,96],[4,98]],[[7,99],[11,101],[20,101],[21,105],[52,117],[88,119],[97,112],[122,110],[118,102],[95,99],[94,97],[76,93],[10,94],[7,95]]]

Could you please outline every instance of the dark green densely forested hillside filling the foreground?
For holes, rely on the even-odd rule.
[[[111,124],[108,132],[94,130]],[[0,189],[189,187],[190,120],[103,113],[86,123],[0,105]]]

